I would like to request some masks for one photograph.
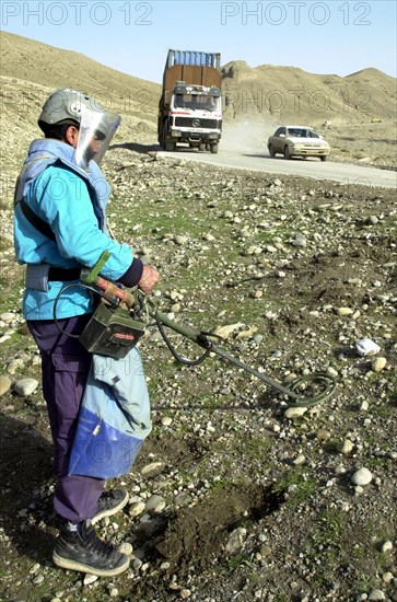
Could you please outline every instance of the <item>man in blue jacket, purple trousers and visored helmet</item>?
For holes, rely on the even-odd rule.
[[[159,273],[109,238],[105,207],[110,187],[98,163],[120,123],[90,96],[70,89],[54,92],[38,126],[45,138],[30,147],[15,187],[14,236],[19,263],[26,264],[23,314],[40,350],[43,393],[54,442],[57,484],[54,507],[61,519],[54,551],[58,566],[101,576],[126,570],[129,559],[101,541],[93,523],[128,501],[122,489],[104,493],[105,482],[68,475],[68,463],[91,354],[79,340],[95,300],[72,287],[82,266],[93,267],[104,251],[110,257],[101,275],[150,293]],[[74,336],[70,336],[74,335]]]

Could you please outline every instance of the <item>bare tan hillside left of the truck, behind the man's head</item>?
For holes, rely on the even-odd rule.
[[[33,58],[34,57],[34,58]],[[0,32],[2,136],[1,163],[11,169],[2,178],[14,181],[30,141],[40,135],[39,108],[59,88],[83,90],[122,115],[116,142],[155,140],[161,88],[127,76],[68,50]],[[10,187],[5,186],[5,189]]]

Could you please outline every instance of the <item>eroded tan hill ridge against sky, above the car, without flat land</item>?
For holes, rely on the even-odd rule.
[[[346,78],[316,76],[295,67],[245,61],[222,69],[225,114],[256,113],[264,118],[294,123],[362,123],[396,117],[396,80],[376,69]]]

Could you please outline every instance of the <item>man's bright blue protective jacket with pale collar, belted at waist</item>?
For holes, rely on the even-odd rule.
[[[15,189],[14,241],[20,264],[50,264],[55,267],[93,267],[104,251],[109,259],[101,270],[117,281],[130,267],[133,254],[107,234],[105,207],[110,187],[95,162],[87,171],[74,162],[74,149],[54,139],[32,142]],[[23,198],[56,236],[50,241],[22,212]],[[48,291],[26,289],[23,314],[26,320],[52,320],[54,300],[70,282],[48,282]],[[65,291],[57,303],[57,317],[92,312],[92,296],[83,288]]]

